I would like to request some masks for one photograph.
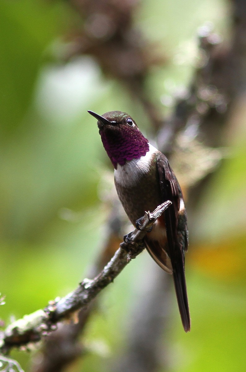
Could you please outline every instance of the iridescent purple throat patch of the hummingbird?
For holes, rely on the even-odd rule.
[[[101,140],[114,168],[117,164],[139,159],[149,151],[147,138],[136,128],[120,128],[101,131]]]

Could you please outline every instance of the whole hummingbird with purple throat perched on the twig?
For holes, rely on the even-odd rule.
[[[136,122],[125,112],[111,111],[97,119],[103,147],[114,166],[114,183],[130,222],[139,230],[139,219],[170,200],[172,204],[145,236],[155,262],[173,275],[179,312],[185,332],[190,331],[190,311],[185,281],[188,248],[187,214],[181,187],[168,159],[149,143]]]

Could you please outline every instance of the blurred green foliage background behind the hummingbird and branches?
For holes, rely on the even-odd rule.
[[[219,0],[140,3],[136,25],[160,42],[171,60],[149,76],[154,100],[188,83],[197,27],[212,21],[226,35],[228,12]],[[75,288],[97,257],[107,218],[101,177],[113,170],[86,110],[129,112],[147,133],[148,123],[91,58],[66,65],[55,59],[62,37],[80,22],[68,3],[2,0],[0,19],[0,291],[6,295],[0,317],[9,323]],[[177,55],[182,64],[172,63]],[[175,306],[168,332],[170,371],[246,368],[245,117],[239,108],[225,135],[230,156],[190,226],[186,272],[192,330],[183,332]],[[83,371],[106,371],[109,358],[124,348],[137,282],[149,260],[143,253],[105,291],[87,326],[91,351]],[[27,368],[28,355],[12,356]]]

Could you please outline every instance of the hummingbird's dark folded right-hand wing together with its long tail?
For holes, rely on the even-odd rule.
[[[168,160],[163,154],[156,159],[162,202],[170,200],[172,204],[164,212],[168,254],[171,259],[175,291],[179,312],[185,331],[190,330],[190,312],[184,270],[184,252],[188,247],[187,216],[181,188]]]

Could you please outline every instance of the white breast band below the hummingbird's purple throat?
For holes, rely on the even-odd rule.
[[[114,180],[124,187],[136,186],[142,176],[148,173],[150,162],[158,150],[149,144],[149,151],[146,155],[141,156],[139,159],[132,159],[126,161],[126,164],[117,164],[117,169],[114,170]]]

